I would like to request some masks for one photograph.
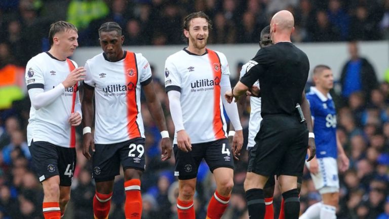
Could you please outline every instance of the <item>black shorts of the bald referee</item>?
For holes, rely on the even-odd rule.
[[[297,117],[265,116],[249,154],[248,172],[262,176],[302,176],[308,129]]]

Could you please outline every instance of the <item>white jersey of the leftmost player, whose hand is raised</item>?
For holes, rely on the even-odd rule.
[[[40,88],[50,91],[64,81],[77,67],[74,61],[60,61],[49,53],[32,57],[26,66],[27,89]],[[79,92],[68,87],[52,103],[35,110],[30,108],[27,125],[27,141],[44,141],[61,147],[75,147],[75,132],[68,122],[74,104],[80,104]]]

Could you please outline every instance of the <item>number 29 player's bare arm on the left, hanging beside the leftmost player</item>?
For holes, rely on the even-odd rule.
[[[85,84],[84,84],[85,85]],[[90,148],[92,151],[95,151],[95,143],[93,140],[93,135],[91,132],[92,122],[93,122],[93,95],[95,90],[93,87],[88,85],[84,86],[83,92],[83,102],[81,109],[83,111],[83,154],[89,160],[92,155],[90,154]]]

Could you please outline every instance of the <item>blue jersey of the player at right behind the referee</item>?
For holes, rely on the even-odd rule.
[[[306,94],[310,113],[314,119],[316,157],[337,158],[336,111],[330,94],[325,97],[316,87],[310,87]]]

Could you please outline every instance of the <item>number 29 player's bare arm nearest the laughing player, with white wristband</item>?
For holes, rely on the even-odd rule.
[[[155,95],[154,83],[151,81],[142,87],[144,95],[146,96],[147,107],[152,118],[155,123],[157,123],[157,127],[160,132],[166,131],[168,128],[166,126],[164,111],[162,110],[161,102],[157,99],[157,95]],[[161,148],[161,160],[165,161],[172,156],[172,145],[170,143],[169,134],[167,136],[162,136]]]

